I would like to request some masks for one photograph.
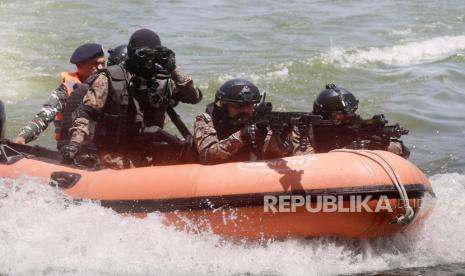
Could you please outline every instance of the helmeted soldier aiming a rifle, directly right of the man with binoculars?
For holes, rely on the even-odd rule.
[[[200,163],[279,158],[292,153],[290,129],[276,137],[267,126],[244,123],[260,98],[258,88],[243,79],[229,80],[218,89],[215,102],[194,123]]]

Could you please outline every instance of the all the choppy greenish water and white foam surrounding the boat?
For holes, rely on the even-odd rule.
[[[363,115],[385,113],[410,129],[411,160],[439,197],[433,216],[418,236],[231,245],[175,232],[157,215],[65,207],[24,180],[20,192],[0,188],[0,274],[337,274],[465,262],[464,1],[0,0],[7,136],[73,69],[76,46],[114,47],[140,27],[157,31],[204,91],[202,104],[180,106],[188,122],[232,77],[288,110],[310,110],[328,82],[353,91]],[[51,137],[37,143],[52,147]]]

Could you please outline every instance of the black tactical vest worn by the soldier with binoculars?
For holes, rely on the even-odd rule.
[[[97,145],[121,147],[140,138],[145,127],[163,128],[166,106],[154,108],[145,101],[138,101],[132,75],[122,65],[102,69],[109,78],[109,93],[95,130]],[[169,79],[158,79],[157,89],[168,89]],[[131,144],[132,145],[132,144]]]

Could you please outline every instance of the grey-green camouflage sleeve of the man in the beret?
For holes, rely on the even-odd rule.
[[[19,132],[19,136],[24,137],[26,143],[29,143],[47,129],[48,125],[55,120],[58,112],[62,112],[66,106],[66,87],[64,84],[58,86],[44,104],[42,110]]]

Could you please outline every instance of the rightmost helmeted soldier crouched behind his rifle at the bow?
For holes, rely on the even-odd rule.
[[[358,100],[355,96],[345,90],[335,86],[334,84],[328,84],[326,89],[321,91],[317,96],[313,104],[313,113],[321,115],[325,120],[332,120],[337,124],[344,124],[346,120],[355,118],[358,115],[355,111],[358,108]],[[300,148],[300,133],[298,129],[293,131],[293,144],[294,144],[294,155],[311,154],[311,153],[324,153],[330,150],[336,149],[333,147],[334,137],[316,137],[317,134],[310,128],[309,136],[311,143],[305,147]],[[337,135],[336,133],[334,135]],[[315,142],[318,139],[321,144]],[[313,143],[312,143],[313,142]],[[401,140],[391,140],[388,145],[384,142],[381,137],[373,136],[369,140],[364,140],[362,143],[351,143],[345,145],[343,148],[347,149],[369,149],[369,150],[387,150],[394,154],[400,155],[404,158],[410,156],[409,149],[404,145]]]

